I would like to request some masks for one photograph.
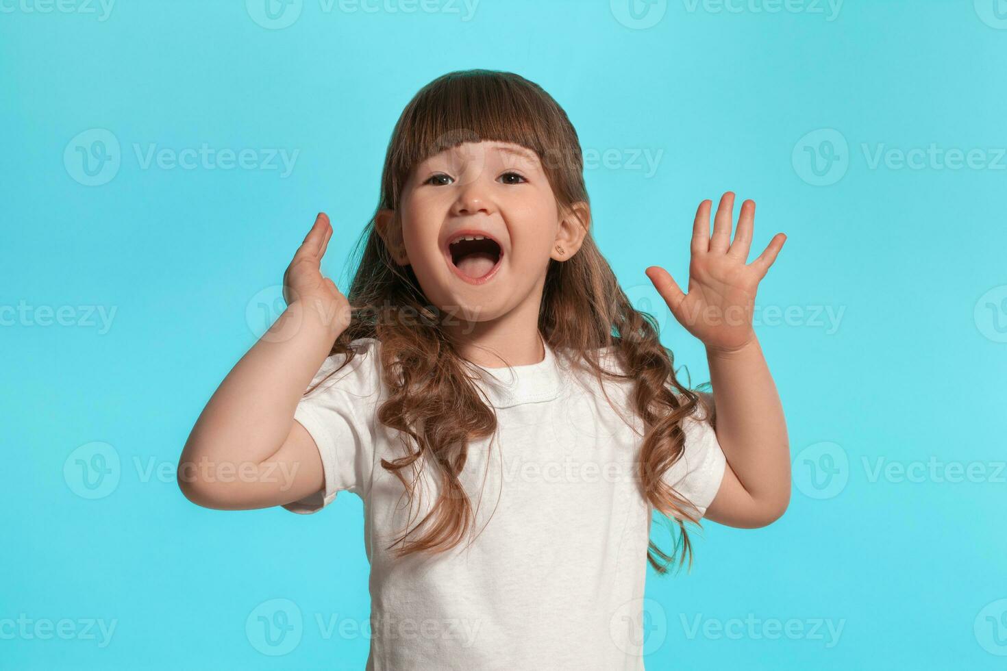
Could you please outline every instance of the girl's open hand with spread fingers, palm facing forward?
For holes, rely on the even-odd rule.
[[[710,207],[704,200],[693,224],[692,261],[689,264],[689,293],[683,294],[671,274],[660,266],[646,269],[661,297],[675,318],[703,341],[708,350],[730,353],[755,339],[752,312],[758,283],[776,260],[786,235],[776,233],[768,246],[751,264],[745,265],[751,247],[755,202],[741,204],[738,228],[731,242],[731,212],[734,193],[720,199],[710,237]]]

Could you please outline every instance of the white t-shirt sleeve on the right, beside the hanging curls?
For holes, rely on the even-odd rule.
[[[694,414],[683,420],[685,453],[665,474],[665,481],[679,496],[691,500],[699,517],[703,517],[720,489],[727,459],[711,425],[712,396],[709,393],[698,393],[700,407]]]

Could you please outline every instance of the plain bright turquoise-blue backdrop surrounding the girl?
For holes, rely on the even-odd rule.
[[[303,0],[273,20],[263,0],[108,13],[3,0],[0,667],[364,667],[359,499],[314,516],[210,511],[182,497],[174,466],[275,318],[315,213],[332,219],[323,270],[345,289],[402,108],[446,71],[487,67],[568,112],[596,157],[585,172],[601,248],[694,384],[708,379],[702,345],[658,309],[643,270],[684,286],[695,208],[728,189],[758,203],[751,259],[788,236],[756,329],[786,411],[793,502],[762,529],[707,522],[691,573],[650,576],[648,668],[1005,668],[996,1],[847,0],[836,13],[669,0],[631,13],[623,0],[482,0],[469,15],[447,0]],[[251,150],[258,167],[144,161],[203,143]],[[931,145],[980,153],[959,169],[947,155],[873,162]],[[268,167],[270,150],[297,152],[289,174]],[[81,151],[95,152],[88,165]],[[46,317],[60,309],[61,323]],[[921,477],[877,475],[892,464]],[[949,464],[982,475],[949,482]],[[303,625],[274,656],[253,616],[277,599]],[[68,619],[71,636],[14,634],[22,614]],[[316,617],[355,630],[326,638]],[[108,645],[88,619],[115,622]]]

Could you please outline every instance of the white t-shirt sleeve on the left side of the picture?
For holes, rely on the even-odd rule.
[[[359,342],[365,346],[361,347]],[[374,466],[374,422],[379,401],[380,375],[376,341],[354,340],[352,360],[341,368],[344,354],[327,357],[308,385],[320,384],[297,403],[294,420],[314,439],[321,456],[322,490],[283,507],[295,513],[313,513],[349,490],[362,498]],[[339,368],[337,372],[332,372]],[[324,381],[322,381],[324,380]]]

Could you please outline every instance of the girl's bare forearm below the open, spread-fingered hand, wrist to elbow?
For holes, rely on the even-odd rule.
[[[736,352],[707,348],[717,440],[752,500],[786,507],[790,451],[786,421],[757,339]]]

